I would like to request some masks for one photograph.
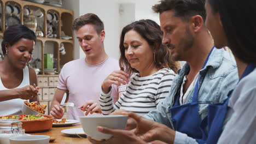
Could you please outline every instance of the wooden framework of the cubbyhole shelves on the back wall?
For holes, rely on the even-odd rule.
[[[0,0],[1,7],[2,7],[2,32],[4,32],[5,29],[5,5],[11,4],[11,5],[18,5],[20,7],[20,20],[21,24],[24,24],[24,15],[22,13],[23,9],[29,8],[30,10],[37,10],[40,9],[42,13],[44,14],[44,23],[43,23],[43,33],[47,33],[47,22],[46,22],[46,15],[48,12],[54,12],[54,14],[57,15],[59,21],[57,21],[57,25],[55,25],[56,29],[56,35],[57,38],[48,38],[44,35],[44,37],[37,37],[37,40],[41,41],[42,44],[40,45],[42,47],[41,49],[41,65],[42,65],[42,73],[44,73],[44,53],[45,53],[45,43],[53,42],[53,50],[54,50],[54,58],[57,58],[57,72],[60,73],[60,65],[63,65],[69,61],[72,61],[74,59],[74,36],[73,31],[71,30],[72,22],[74,20],[74,12],[72,10],[68,9],[62,9],[57,7],[52,7],[50,5],[44,5],[44,4],[38,4],[38,3],[32,3],[27,1],[21,1],[21,0]],[[61,22],[65,21],[65,22]],[[62,23],[62,25],[61,25]],[[71,40],[65,40],[61,39],[61,31],[65,32],[66,35],[69,35],[72,37]],[[0,37],[3,37],[3,33],[0,32]],[[59,47],[61,46],[61,43],[64,43],[65,49],[68,51],[68,55],[61,56],[60,58],[60,52]]]

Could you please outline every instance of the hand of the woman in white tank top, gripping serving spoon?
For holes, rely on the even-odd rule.
[[[17,88],[15,91],[20,99],[32,99],[37,96],[39,87],[33,87],[31,85]]]

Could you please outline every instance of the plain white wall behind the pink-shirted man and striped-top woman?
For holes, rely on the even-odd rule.
[[[116,59],[119,58],[119,35],[121,27],[132,21],[139,19],[152,19],[159,22],[158,14],[153,13],[152,5],[158,3],[158,0],[62,0],[63,8],[74,10],[75,18],[86,13],[94,13],[104,22],[106,39],[104,46],[107,54]],[[125,16],[120,17],[120,5],[126,5],[132,8],[132,11],[124,7]],[[123,21],[122,21],[123,20]],[[76,37],[76,36],[75,36]],[[84,57],[84,52],[80,49],[77,40],[75,40],[75,59]]]

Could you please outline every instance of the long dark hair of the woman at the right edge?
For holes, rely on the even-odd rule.
[[[255,0],[208,0],[212,13],[219,13],[228,45],[240,61],[256,64]]]

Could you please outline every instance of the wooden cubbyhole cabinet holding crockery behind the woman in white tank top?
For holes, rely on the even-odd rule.
[[[22,25],[25,24],[24,22],[24,13],[27,9],[28,11],[34,11],[29,13],[36,13],[36,11],[40,11],[43,14],[43,34],[38,33],[38,35],[43,35],[43,37],[37,36],[37,42],[40,44],[40,51],[41,54],[40,62],[41,62],[41,74],[45,74],[46,71],[44,69],[44,52],[46,49],[52,49],[54,59],[56,59],[55,67],[56,67],[56,74],[60,73],[60,65],[63,65],[69,61],[72,61],[74,59],[74,36],[73,32],[71,30],[72,22],[74,19],[74,14],[72,10],[57,8],[57,7],[51,7],[49,5],[43,5],[38,3],[32,3],[27,1],[21,1],[21,0],[0,0],[1,4],[1,31],[0,31],[0,38],[3,37],[4,29],[9,26],[7,22],[10,21],[10,17],[13,17],[13,23],[21,23]],[[18,10],[13,10],[13,9]],[[15,12],[18,11],[18,12]],[[23,12],[22,12],[23,11]],[[27,15],[27,14],[26,14]],[[54,16],[54,18],[49,18],[50,16]],[[54,19],[55,23],[57,23],[57,26],[55,27],[55,33],[49,34],[49,28],[47,28],[49,25],[49,19]],[[17,21],[14,21],[17,20]],[[11,22],[9,22],[11,23]],[[33,25],[33,24],[32,24]],[[27,25],[26,25],[27,26]],[[33,26],[31,26],[33,27]],[[37,31],[38,32],[38,31]],[[61,34],[62,33],[62,34]],[[71,37],[71,39],[67,39],[67,37],[62,37],[65,35],[68,35]],[[56,34],[56,35],[55,35]],[[53,37],[53,35],[55,35]],[[51,43],[53,47],[46,47],[47,43]],[[63,45],[65,47],[66,54],[61,55],[60,54],[60,47]],[[51,71],[50,71],[51,72]]]

